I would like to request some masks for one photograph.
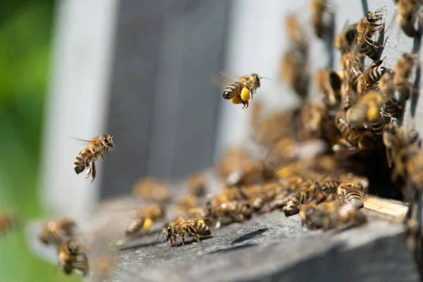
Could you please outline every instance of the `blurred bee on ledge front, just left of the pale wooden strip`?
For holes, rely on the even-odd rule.
[[[366,216],[353,204],[342,204],[338,201],[302,205],[300,217],[303,226],[312,230],[322,228],[324,231],[341,231],[343,228],[360,226],[367,222]]]

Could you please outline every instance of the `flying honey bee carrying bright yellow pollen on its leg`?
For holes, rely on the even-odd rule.
[[[256,92],[257,88],[260,87],[260,80],[262,77],[257,75],[257,73],[252,73],[251,75],[245,75],[239,78],[238,81],[232,82],[231,85],[228,85],[223,90],[222,97],[223,99],[231,99],[233,104],[242,103],[243,109],[248,108],[248,100],[253,98],[253,94]]]

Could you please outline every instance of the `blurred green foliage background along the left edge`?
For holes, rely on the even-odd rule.
[[[30,253],[25,223],[49,216],[37,192],[41,133],[51,65],[53,0],[0,1],[0,212],[20,216],[0,235],[0,282],[80,281]]]

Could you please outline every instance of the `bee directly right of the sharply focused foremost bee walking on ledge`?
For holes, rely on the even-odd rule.
[[[212,199],[206,206],[210,219],[216,222],[216,229],[220,228],[222,221],[243,222],[252,216],[251,205],[247,201]]]

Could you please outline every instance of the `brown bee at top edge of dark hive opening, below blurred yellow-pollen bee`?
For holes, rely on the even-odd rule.
[[[372,140],[362,133],[358,133],[354,128],[345,121],[345,112],[337,111],[335,116],[336,128],[343,136],[338,140],[338,144],[333,146],[333,150],[338,152],[341,147],[345,147],[348,151],[355,151],[355,149],[372,149]]]

